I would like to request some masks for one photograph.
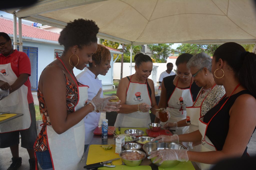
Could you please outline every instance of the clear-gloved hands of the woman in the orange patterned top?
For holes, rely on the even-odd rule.
[[[118,102],[110,102],[109,100],[111,99],[116,99],[116,96],[109,96],[107,98],[101,98],[102,89],[98,91],[96,96],[90,101],[90,103],[94,106],[94,110],[98,111],[105,111],[105,112],[112,112],[112,111],[119,111],[119,108],[121,107],[120,105],[120,100]]]

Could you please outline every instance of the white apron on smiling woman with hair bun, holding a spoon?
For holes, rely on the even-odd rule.
[[[131,76],[132,79],[132,76]],[[126,92],[127,105],[134,105],[140,103],[147,103],[151,106],[151,96],[149,95],[146,83],[136,83],[129,81],[128,89]],[[149,111],[144,113],[136,111],[129,114],[119,113],[116,117],[115,127],[149,127],[151,123]]]

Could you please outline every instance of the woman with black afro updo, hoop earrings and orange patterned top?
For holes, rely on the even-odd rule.
[[[77,169],[84,148],[83,118],[95,110],[119,111],[120,102],[109,102],[115,96],[100,97],[102,89],[88,101],[89,87],[79,83],[72,71],[92,62],[98,32],[92,20],[67,23],[59,37],[63,54],[41,74],[37,96],[43,126],[34,148],[42,169]]]

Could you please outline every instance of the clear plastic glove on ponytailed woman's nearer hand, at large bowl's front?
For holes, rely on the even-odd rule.
[[[162,164],[164,161],[170,161],[170,160],[178,160],[178,161],[188,161],[188,154],[187,149],[160,149],[158,151],[152,151],[148,152],[150,156],[148,156],[148,159],[151,159],[155,156],[157,158],[153,161],[153,163],[159,161],[159,164]]]

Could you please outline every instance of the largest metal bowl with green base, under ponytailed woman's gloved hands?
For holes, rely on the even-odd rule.
[[[172,142],[172,143],[168,143],[168,142],[156,143],[155,141],[152,141],[152,142],[148,142],[148,143],[143,145],[143,150],[146,152],[146,154],[148,152],[156,151],[156,150],[159,150],[159,149],[187,149],[187,148],[184,147],[182,144],[175,143],[175,142]],[[151,158],[151,162],[153,162],[155,159],[156,159],[156,157]],[[174,167],[174,166],[176,166],[180,163],[180,161],[177,161],[177,160],[164,161],[162,164],[159,164],[158,162],[159,161],[155,162],[154,164],[156,166],[161,167],[161,168]]]

